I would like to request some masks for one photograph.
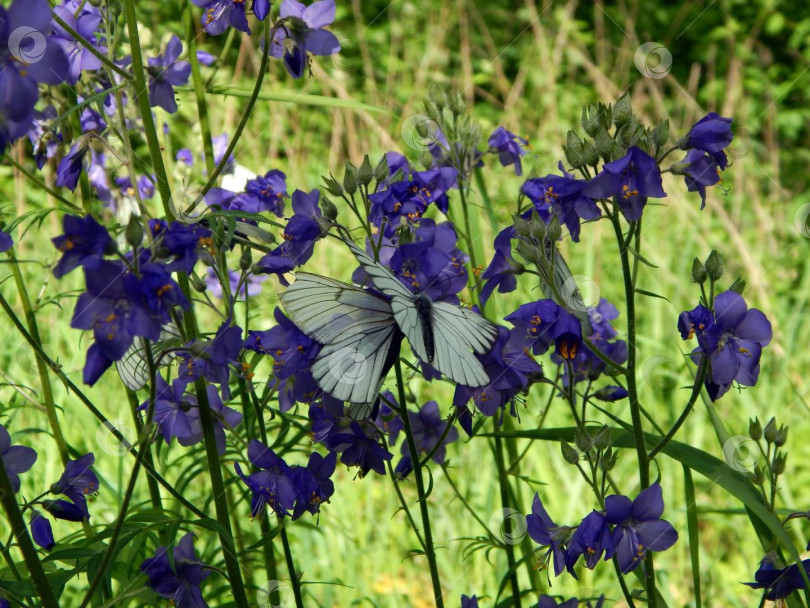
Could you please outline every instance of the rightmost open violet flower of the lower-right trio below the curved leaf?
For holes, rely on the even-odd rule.
[[[678,533],[668,521],[661,519],[664,499],[661,485],[656,482],[630,500],[612,495],[605,499],[605,517],[613,529],[616,559],[624,574],[635,570],[647,551],[665,551],[678,540]]]

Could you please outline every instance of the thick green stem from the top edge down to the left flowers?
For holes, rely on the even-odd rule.
[[[160,140],[158,139],[155,120],[152,117],[152,107],[149,105],[149,87],[146,83],[146,77],[144,76],[141,40],[138,36],[138,20],[135,16],[135,0],[123,0],[123,4],[124,15],[127,21],[127,31],[129,32],[132,74],[135,81],[135,98],[138,102],[141,120],[143,120],[146,145],[149,148],[149,156],[152,159],[152,168],[155,170],[155,179],[157,180],[157,189],[163,203],[163,212],[167,219],[174,219],[175,214],[171,209],[172,192],[171,188],[169,188],[169,178],[166,174],[166,165],[163,163]]]

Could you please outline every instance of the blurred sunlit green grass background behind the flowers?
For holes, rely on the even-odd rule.
[[[182,36],[184,8],[184,2],[140,2],[146,44],[157,47],[156,32],[163,38],[170,31]],[[661,424],[673,421],[686,402],[688,392],[682,387],[690,382],[693,370],[684,363],[682,353],[690,345],[681,342],[675,323],[680,311],[697,303],[698,291],[689,280],[693,257],[705,258],[711,249],[718,249],[725,255],[726,286],[737,275],[748,281],[746,299],[772,321],[774,339],[763,354],[759,385],[730,392],[716,404],[716,409],[732,435],[745,435],[748,419],[754,416],[761,420],[778,416],[780,423],[790,425],[788,474],[780,493],[783,505],[807,509],[810,443],[805,443],[804,438],[810,431],[805,398],[810,336],[804,320],[810,294],[810,241],[804,223],[810,214],[810,206],[806,206],[810,202],[810,150],[806,145],[810,129],[810,16],[805,3],[341,0],[332,29],[343,48],[334,58],[318,58],[312,66],[312,78],[292,81],[280,63],[273,62],[264,92],[286,95],[289,101],[260,101],[237,147],[238,162],[249,169],[261,173],[275,168],[284,171],[290,191],[318,187],[320,176],[330,171],[342,176],[345,162],[359,164],[364,153],[370,154],[372,160],[388,150],[418,157],[419,150],[407,145],[413,138],[409,125],[413,124],[412,117],[420,114],[431,82],[460,91],[472,114],[481,121],[485,135],[503,125],[527,136],[531,152],[524,159],[524,167],[526,173],[539,175],[556,171],[566,131],[581,131],[583,104],[611,102],[625,91],[630,92],[642,120],[668,118],[673,138],[685,134],[709,111],[734,118],[731,166],[722,184],[725,192],[711,189],[706,209],[700,211],[699,197],[687,193],[680,179],[665,176],[668,198],[663,205],[650,206],[645,212],[643,253],[659,268],[642,266],[640,286],[666,296],[670,302],[640,298],[639,361],[644,376],[641,397]],[[663,77],[645,76],[636,65],[634,55],[646,42],[658,43],[671,56],[668,71],[661,50],[657,59],[651,57],[641,63],[648,73]],[[247,37],[241,42],[237,39],[214,82],[250,89],[259,61],[256,43]],[[219,55],[223,39],[203,37],[200,48]],[[376,110],[306,104],[296,97],[298,93],[362,102]],[[209,103],[214,134],[232,133],[245,100],[211,95]],[[161,113],[158,118],[170,125],[168,158],[182,147],[200,149],[196,106],[190,92],[180,95],[178,114],[167,118]],[[29,154],[28,143],[21,142],[14,153]],[[501,168],[493,160],[486,171],[487,187],[503,227],[515,209],[525,176],[515,177],[511,168]],[[195,179],[201,182],[199,177]],[[0,194],[10,214],[47,204],[8,166],[0,168]],[[474,194],[471,204],[480,202]],[[481,238],[490,255],[496,230],[489,226],[483,210],[481,225]],[[52,214],[41,229],[23,236],[18,257],[45,264],[55,262],[57,255],[48,239],[58,233],[59,218]],[[621,309],[623,287],[610,226],[598,223],[584,227],[582,242],[569,242],[563,250],[574,274],[582,277],[587,298],[595,301],[601,295]],[[343,280],[349,279],[352,267],[347,252],[333,249],[326,242],[317,246],[308,264],[310,270]],[[68,323],[71,297],[81,287],[81,278],[74,273],[56,281],[35,264],[26,264],[24,269],[30,294],[37,300],[46,350],[58,356],[63,369],[78,383],[89,342],[87,336],[68,329]],[[2,276],[8,274],[4,271]],[[541,297],[530,281],[520,285],[518,292],[495,300],[495,306],[489,309],[493,317],[497,314],[500,318],[520,303]],[[252,299],[253,328],[271,326],[277,288],[274,279],[268,280],[263,294]],[[12,281],[5,281],[2,289],[16,301]],[[59,295],[70,290],[74,291],[67,296]],[[620,331],[623,324],[622,315],[616,322]],[[39,461],[24,476],[23,483],[25,495],[34,496],[58,478],[59,459],[37,403],[33,354],[13,327],[4,327],[0,410],[6,422],[13,421],[18,442],[39,449]],[[548,369],[551,364],[546,366]],[[257,375],[262,372],[266,375],[267,369],[258,370]],[[91,506],[91,524],[100,528],[113,521],[117,513],[131,462],[118,455],[106,430],[73,396],[58,382],[54,388],[69,443],[79,452],[96,453],[102,488]],[[442,410],[449,412],[451,388],[413,388],[420,403],[436,398]],[[132,426],[114,373],[108,373],[87,394],[110,419]],[[545,389],[535,387],[525,403],[518,405],[520,421],[515,425],[535,428],[547,401]],[[613,407],[617,415],[629,419],[624,405]],[[306,410],[301,408],[298,413],[305,416]],[[545,426],[570,424],[567,407],[553,401]],[[723,457],[723,446],[701,403],[677,438]],[[461,494],[492,532],[511,533],[511,524],[504,524],[495,467],[485,443],[485,439],[477,438],[467,444],[464,438],[452,445],[448,450],[450,471]],[[525,446],[518,442],[517,451]],[[304,451],[291,455],[288,461],[303,464],[307,449],[303,446]],[[183,471],[179,486],[200,503],[210,500],[205,477],[189,482],[185,475],[196,470],[202,453],[200,449],[176,445],[160,452],[161,464],[169,466],[167,475]],[[756,462],[755,455],[745,454],[745,446],[735,458],[743,468],[753,467]],[[670,606],[689,606],[693,592],[682,470],[665,458],[658,463],[667,503],[665,517],[681,532],[679,543],[656,560],[659,588]],[[228,470],[232,475],[230,466]],[[616,478],[624,493],[631,496],[637,492],[635,470],[633,453],[622,453]],[[523,513],[529,512],[535,491],[558,523],[575,523],[595,506],[575,469],[562,461],[557,444],[533,444],[521,462],[520,473]],[[390,481],[374,476],[362,480],[353,477],[353,472],[339,468],[336,493],[322,509],[317,526],[314,520],[305,519],[290,526],[297,565],[307,582],[307,605],[431,605],[427,567],[419,557],[409,557],[409,550],[417,542],[397,510]],[[481,606],[493,606],[506,571],[504,555],[494,551],[488,560],[485,551],[468,550],[470,538],[481,535],[479,524],[454,497],[438,468],[434,468],[434,481],[430,503],[447,604],[458,605],[462,593],[477,593],[485,598]],[[696,477],[696,484],[704,605],[755,606],[759,594],[740,583],[752,580],[762,549],[742,505],[711,480]],[[406,496],[413,500],[412,482],[404,486]],[[138,500],[146,499],[142,488]],[[207,506],[212,510],[212,505]],[[250,546],[258,540],[258,523],[251,522],[245,509],[242,511],[240,533],[244,546]],[[4,526],[5,522],[0,523],[0,530]],[[75,526],[58,524],[55,531],[57,538],[71,533],[78,537]],[[807,532],[806,524],[792,524],[791,533],[802,547]],[[218,547],[213,532],[200,530],[198,534],[198,554],[216,563]],[[132,563],[137,563],[147,548],[128,550],[131,553],[122,554],[121,562],[129,556]],[[266,578],[259,555],[255,557],[255,562],[246,562],[254,588]],[[131,570],[132,563],[121,562],[117,567],[122,572]],[[520,575],[528,586],[526,572],[521,570]],[[541,578],[545,580],[544,573]],[[615,605],[624,605],[608,564],[601,564],[595,572],[584,571],[579,581],[564,575],[552,582],[555,594],[584,597],[605,593],[616,600]],[[81,587],[78,581],[70,584],[64,605],[72,605],[70,599]],[[289,592],[288,587],[286,590]],[[210,577],[204,594],[212,606],[228,601],[219,576]],[[291,592],[285,595],[288,603],[284,605],[292,605]],[[135,605],[153,597],[144,593],[133,596],[132,601]]]

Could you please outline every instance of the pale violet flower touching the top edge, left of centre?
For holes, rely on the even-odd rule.
[[[270,55],[283,57],[284,67],[293,78],[301,78],[307,67],[307,53],[333,55],[340,50],[335,35],[323,28],[335,20],[335,0],[319,0],[305,6],[297,0],[284,0],[270,43]]]

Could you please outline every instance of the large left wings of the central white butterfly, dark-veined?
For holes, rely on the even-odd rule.
[[[396,332],[388,302],[305,272],[279,299],[292,322],[323,345],[311,367],[318,386],[342,401],[373,403]]]

